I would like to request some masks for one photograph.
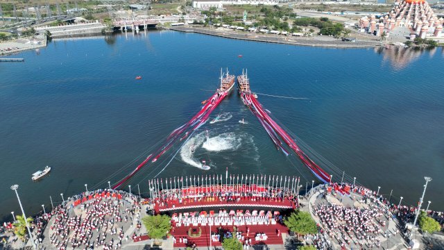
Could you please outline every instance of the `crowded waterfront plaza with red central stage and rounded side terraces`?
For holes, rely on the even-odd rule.
[[[163,249],[202,248],[210,242],[221,247],[221,239],[231,237],[244,249],[291,249],[300,244],[318,249],[409,248],[404,224],[411,217],[410,208],[390,204],[359,185],[318,185],[300,199],[290,186],[189,185],[151,190],[152,198],[108,189],[82,192],[37,215],[33,238],[38,249],[143,249],[153,240],[146,235],[142,218],[168,214],[171,236],[162,240]],[[318,224],[316,235],[290,235],[283,221],[298,208]],[[442,224],[441,213],[430,215]],[[12,249],[24,247],[14,239],[9,239]],[[438,236],[417,233],[416,240],[420,249],[444,247]]]

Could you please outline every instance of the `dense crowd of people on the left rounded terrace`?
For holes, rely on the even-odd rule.
[[[125,194],[120,200],[99,196],[84,203],[81,208],[84,214],[75,216],[74,211],[60,208],[50,225],[51,244],[60,250],[68,246],[120,249],[124,236],[123,220],[128,222],[129,218],[132,223],[134,217],[140,219],[137,201],[137,197],[130,194]]]

